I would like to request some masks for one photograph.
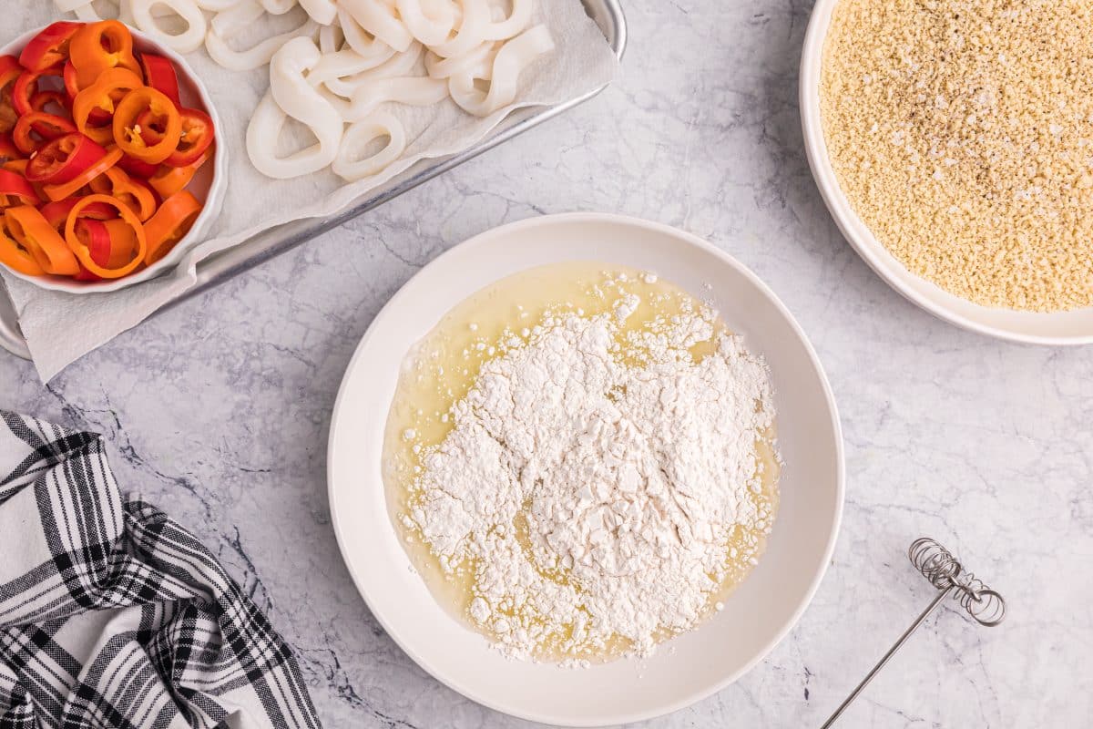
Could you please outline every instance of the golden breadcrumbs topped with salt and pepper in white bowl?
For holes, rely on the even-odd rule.
[[[851,205],[977,304],[1093,305],[1093,1],[842,0],[820,103]]]

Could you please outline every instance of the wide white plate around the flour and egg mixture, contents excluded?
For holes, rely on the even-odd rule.
[[[573,260],[655,271],[712,297],[771,365],[786,467],[766,554],[725,610],[638,663],[561,669],[508,660],[442,609],[411,572],[388,517],[384,427],[410,348],[456,304],[510,273]],[[712,289],[704,289],[710,284]],[[600,214],[534,217],[483,233],[426,266],[384,307],[345,373],[330,426],[330,512],[357,589],[390,636],[463,695],[514,716],[569,726],[637,721],[682,708],[742,675],[789,632],[835,545],[843,439],[831,388],[804,334],[750,271],[693,235]]]

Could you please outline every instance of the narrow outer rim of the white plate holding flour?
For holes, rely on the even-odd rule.
[[[740,261],[738,261],[736,258],[733,258],[732,256],[730,256],[726,251],[721,250],[720,248],[717,248],[716,246],[714,246],[709,242],[704,240],[703,238],[700,238],[698,236],[696,236],[696,235],[694,235],[692,233],[689,233],[686,231],[682,231],[680,228],[672,227],[670,225],[666,225],[663,223],[657,223],[657,222],[647,221],[647,220],[639,219],[639,217],[633,217],[633,216],[630,216],[630,215],[621,215],[621,214],[614,214],[614,213],[573,212],[573,213],[555,213],[555,214],[532,216],[532,217],[528,217],[528,219],[525,219],[525,220],[520,220],[520,221],[516,221],[516,222],[513,222],[513,223],[508,223],[508,224],[505,224],[505,225],[501,225],[498,227],[494,227],[494,228],[491,228],[489,231],[484,231],[484,232],[482,232],[482,233],[480,233],[480,234],[478,234],[475,236],[472,236],[471,238],[469,238],[469,239],[467,239],[467,240],[465,240],[465,242],[462,242],[462,243],[460,243],[460,244],[458,244],[456,246],[453,246],[451,248],[449,248],[448,250],[446,250],[445,252],[443,252],[442,255],[439,255],[435,259],[433,259],[433,261],[431,261],[430,263],[427,263],[426,266],[424,266],[413,277],[411,277],[399,289],[399,291],[396,292],[396,294],[387,302],[387,304],[384,305],[384,307],[379,310],[378,314],[376,314],[375,318],[368,325],[368,329],[365,331],[364,336],[361,338],[360,343],[357,344],[356,349],[353,352],[353,356],[350,358],[350,362],[349,362],[349,364],[345,367],[346,376],[342,379],[342,384],[341,384],[341,386],[338,389],[338,397],[337,397],[337,399],[334,401],[334,408],[333,408],[333,412],[332,412],[331,420],[330,420],[330,430],[329,430],[329,435],[328,435],[328,440],[327,440],[327,498],[328,498],[329,504],[331,505],[331,509],[330,509],[331,526],[333,527],[334,537],[336,537],[336,540],[338,542],[339,552],[342,555],[342,562],[344,563],[346,571],[350,573],[350,576],[353,579],[353,584],[356,587],[357,592],[361,595],[362,599],[364,599],[365,604],[367,604],[368,610],[372,612],[372,614],[379,622],[380,626],[383,626],[383,628],[387,633],[387,635],[390,636],[390,638],[396,643],[396,645],[399,646],[399,648],[402,649],[403,652],[406,652],[408,656],[410,656],[410,658],[415,663],[418,663],[418,666],[422,667],[434,679],[436,679],[437,681],[439,681],[444,685],[448,686],[453,691],[455,691],[455,692],[457,692],[457,693],[466,696],[467,698],[470,698],[471,701],[473,701],[473,702],[475,702],[478,704],[486,706],[486,707],[489,707],[491,709],[494,709],[496,712],[501,712],[503,714],[507,714],[509,716],[515,716],[517,718],[526,719],[526,720],[529,720],[529,721],[538,721],[538,722],[548,724],[548,725],[550,725],[550,724],[552,724],[554,721],[554,717],[551,717],[549,715],[540,715],[540,714],[528,713],[528,712],[514,712],[510,707],[507,707],[507,706],[505,706],[503,704],[500,704],[500,703],[491,699],[490,697],[482,696],[477,691],[462,685],[457,678],[453,678],[453,677],[447,677],[447,675],[440,674],[438,671],[436,671],[434,669],[434,667],[431,665],[431,662],[424,656],[422,656],[418,651],[413,650],[399,636],[399,634],[396,631],[392,630],[392,626],[391,626],[388,618],[381,611],[377,611],[375,604],[373,603],[373,601],[369,600],[369,598],[367,596],[367,590],[365,588],[364,581],[360,578],[360,575],[359,575],[357,571],[353,567],[353,565],[350,564],[350,560],[346,558],[346,552],[345,552],[346,543],[345,543],[345,537],[344,537],[344,533],[343,533],[343,529],[344,528],[343,528],[343,526],[341,524],[341,520],[340,520],[340,518],[338,516],[338,510],[333,508],[333,504],[334,504],[334,482],[333,482],[333,478],[332,478],[333,470],[331,468],[331,463],[336,462],[334,461],[334,444],[336,444],[334,434],[337,433],[338,423],[339,423],[339,420],[340,420],[340,413],[342,412],[343,405],[344,405],[344,402],[345,402],[344,396],[345,396],[345,391],[348,389],[348,385],[349,385],[349,381],[350,381],[350,377],[348,375],[349,375],[349,373],[351,373],[354,369],[354,367],[356,366],[357,361],[363,356],[363,353],[367,349],[368,342],[371,341],[372,337],[374,336],[374,333],[377,330],[377,326],[376,326],[377,322],[379,322],[379,321],[381,321],[381,320],[384,320],[384,319],[389,318],[390,316],[392,316],[392,311],[397,308],[397,304],[399,303],[399,301],[404,295],[407,295],[407,289],[409,287],[409,285],[410,285],[411,282],[413,282],[415,279],[422,277],[426,272],[426,270],[432,270],[434,267],[444,266],[445,262],[446,262],[446,260],[448,258],[451,258],[451,257],[457,256],[457,255],[461,255],[469,247],[475,247],[475,246],[479,246],[479,245],[485,245],[485,244],[487,244],[489,242],[491,242],[493,238],[495,238],[497,236],[507,236],[507,235],[512,235],[512,234],[521,232],[521,231],[524,231],[526,228],[531,228],[531,227],[537,227],[537,226],[544,226],[544,225],[549,226],[549,225],[554,225],[554,224],[560,224],[560,223],[574,223],[574,222],[576,222],[576,223],[581,223],[581,222],[587,222],[587,223],[603,223],[603,222],[607,222],[607,223],[615,223],[615,224],[623,224],[623,225],[633,225],[633,226],[636,226],[636,227],[639,227],[639,228],[646,228],[646,230],[650,230],[650,231],[654,231],[654,232],[657,232],[657,233],[660,233],[660,234],[663,234],[663,235],[672,236],[672,237],[675,237],[675,238],[680,239],[681,243],[685,243],[685,244],[690,244],[690,245],[696,246],[696,247],[698,247],[698,248],[701,248],[701,249],[703,249],[703,250],[705,250],[705,251],[714,255],[715,257],[717,257],[721,261],[724,261],[726,264],[728,264],[729,267],[733,268],[737,272],[739,272],[740,274],[742,274],[749,281],[751,281],[751,283],[753,285],[755,285],[755,287],[765,297],[767,297],[771,301],[772,304],[774,304],[774,306],[778,310],[779,315],[785,318],[785,320],[788,322],[788,325],[790,326],[790,328],[794,331],[794,333],[797,336],[797,338],[800,340],[800,342],[804,345],[804,350],[808,353],[810,364],[815,369],[816,374],[820,377],[820,381],[821,381],[821,385],[822,385],[822,392],[823,392],[824,402],[825,402],[825,404],[827,407],[828,416],[831,419],[832,434],[833,434],[834,439],[835,439],[835,454],[834,454],[834,456],[835,456],[835,466],[836,466],[836,472],[835,472],[835,502],[836,503],[835,503],[835,512],[834,512],[834,515],[833,515],[833,518],[832,518],[831,530],[830,530],[830,533],[827,536],[827,541],[826,541],[826,544],[825,544],[825,548],[824,548],[823,558],[819,563],[820,566],[819,566],[816,573],[813,575],[812,580],[808,585],[808,587],[807,587],[806,591],[803,592],[800,601],[795,607],[795,609],[794,609],[790,618],[779,627],[779,630],[777,630],[774,633],[774,635],[772,636],[772,638],[763,646],[763,648],[760,651],[756,652],[756,655],[752,658],[752,660],[750,660],[749,662],[747,662],[744,666],[742,666],[737,671],[733,671],[733,672],[727,674],[720,681],[717,681],[717,682],[715,682],[715,683],[713,683],[710,685],[707,685],[707,686],[703,686],[702,689],[695,690],[692,693],[690,693],[689,695],[683,696],[680,699],[678,699],[675,702],[672,702],[671,704],[666,704],[663,706],[658,707],[657,710],[635,712],[633,714],[616,715],[616,716],[610,717],[606,722],[603,720],[597,719],[595,721],[576,722],[576,724],[571,721],[571,722],[568,722],[566,725],[566,726],[574,726],[574,727],[601,727],[601,726],[613,726],[613,725],[621,725],[621,724],[631,724],[631,722],[635,722],[635,721],[644,721],[644,720],[648,720],[648,719],[654,719],[654,718],[659,717],[659,716],[666,716],[668,714],[671,714],[672,712],[680,710],[682,708],[691,706],[692,704],[695,704],[696,702],[700,702],[700,701],[702,701],[704,698],[707,698],[707,697],[709,697],[709,696],[718,693],[719,691],[726,689],[730,684],[734,683],[738,679],[740,679],[742,675],[744,675],[750,670],[752,670],[760,661],[762,661],[764,658],[766,658],[771,654],[771,651],[774,650],[774,648],[777,647],[777,645],[780,644],[781,640],[784,640],[785,637],[789,634],[789,632],[797,625],[797,623],[801,619],[801,615],[804,614],[804,611],[808,609],[809,604],[811,604],[811,602],[812,602],[812,599],[815,597],[816,590],[820,588],[820,584],[823,581],[823,578],[824,578],[824,576],[827,573],[827,567],[831,564],[832,555],[835,552],[835,545],[836,545],[836,542],[837,542],[838,532],[839,532],[839,528],[842,526],[842,520],[843,520],[843,509],[844,509],[844,505],[845,505],[845,495],[846,495],[845,445],[844,445],[844,438],[843,438],[843,426],[842,426],[842,422],[841,422],[839,416],[838,416],[838,409],[837,409],[837,405],[835,403],[835,396],[834,396],[834,392],[832,391],[831,383],[827,380],[827,375],[824,372],[823,365],[820,362],[820,357],[816,354],[815,349],[812,346],[812,342],[809,341],[809,338],[806,336],[804,330],[801,329],[800,324],[798,324],[797,319],[792,316],[792,314],[789,311],[789,309],[786,308],[786,305],[781,302],[781,299],[778,298],[778,296],[774,293],[774,291],[765,282],[763,282],[762,279],[760,279],[755,273],[753,273],[751,271],[751,269],[749,269],[748,267],[745,267],[743,263],[741,263]]]

